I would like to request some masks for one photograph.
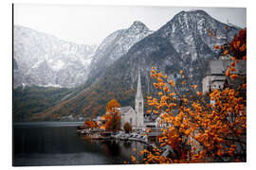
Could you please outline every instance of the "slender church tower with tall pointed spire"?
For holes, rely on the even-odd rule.
[[[141,128],[144,126],[144,102],[143,95],[141,92],[141,82],[140,82],[140,73],[138,69],[137,76],[137,93],[136,93],[136,101],[135,101],[135,110],[136,110],[136,124],[137,128]]]

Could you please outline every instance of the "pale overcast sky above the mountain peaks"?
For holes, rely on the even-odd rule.
[[[181,10],[204,9],[213,18],[247,26],[246,8],[178,8],[129,6],[14,5],[14,25],[46,32],[59,39],[100,44],[110,33],[127,28],[135,20],[157,30]]]

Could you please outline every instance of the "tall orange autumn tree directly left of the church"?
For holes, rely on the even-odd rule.
[[[120,104],[116,99],[110,100],[106,105],[106,123],[105,129],[110,131],[117,131],[120,129]]]

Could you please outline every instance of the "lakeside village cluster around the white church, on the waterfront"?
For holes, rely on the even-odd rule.
[[[113,99],[109,103],[111,102],[113,102],[115,105],[117,101]],[[161,128],[163,126],[159,123],[160,116],[144,115],[144,102],[139,72],[137,77],[135,110],[131,106],[114,108],[114,110],[114,112],[117,112],[120,115],[120,125],[117,128],[119,130],[107,129],[107,117],[111,114],[110,111],[107,111],[106,115],[98,116],[92,121],[85,121],[85,127],[78,127],[78,133],[94,140],[115,139],[122,141],[138,141],[144,144],[150,144],[152,146],[157,144],[157,136],[161,134]]]

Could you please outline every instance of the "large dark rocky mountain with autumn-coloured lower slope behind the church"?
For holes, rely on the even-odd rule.
[[[113,97],[121,106],[134,107],[138,68],[141,71],[144,96],[155,93],[150,77],[152,66],[174,79],[178,87],[181,87],[181,76],[178,72],[182,69],[189,77],[189,83],[197,84],[200,90],[207,60],[217,57],[213,46],[226,42],[225,26],[227,25],[211,18],[205,11],[182,11],[110,64],[97,83],[84,89],[76,97],[41,112],[40,115],[58,112],[73,112],[87,117],[92,114],[101,115],[104,113],[105,104]],[[209,29],[216,32],[219,38],[210,37]],[[229,26],[229,39],[237,32],[238,28]],[[180,91],[183,90],[180,88]]]

